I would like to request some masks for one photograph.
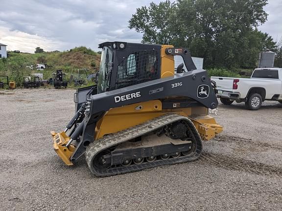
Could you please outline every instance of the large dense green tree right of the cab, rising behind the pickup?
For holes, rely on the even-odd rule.
[[[182,15],[176,26],[181,36],[175,43],[204,57],[205,66],[238,67],[243,46],[248,46],[242,42],[249,42],[249,32],[267,19],[266,4],[267,0],[179,0],[176,12]]]

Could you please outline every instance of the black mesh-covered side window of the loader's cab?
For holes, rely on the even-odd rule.
[[[118,64],[116,89],[159,78],[159,51],[138,51]]]

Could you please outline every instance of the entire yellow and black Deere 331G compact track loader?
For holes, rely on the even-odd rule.
[[[53,148],[67,165],[85,154],[96,176],[194,161],[222,127],[208,116],[215,85],[188,49],[104,42],[97,85],[78,89],[76,113]],[[184,64],[174,69],[174,56]],[[67,134],[68,131],[68,134]]]

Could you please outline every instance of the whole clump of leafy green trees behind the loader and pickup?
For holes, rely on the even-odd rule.
[[[256,27],[267,20],[267,0],[169,0],[142,6],[129,28],[142,42],[188,47],[205,67],[254,67],[258,52],[275,49],[272,38]]]

